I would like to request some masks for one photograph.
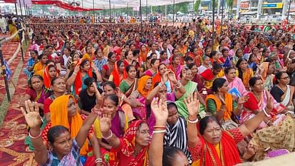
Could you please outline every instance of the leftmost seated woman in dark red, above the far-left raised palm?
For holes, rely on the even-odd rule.
[[[34,75],[29,79],[29,88],[26,90],[22,101],[31,100],[38,103],[39,108],[42,110],[41,115],[43,115],[43,103],[48,96],[49,93],[45,91],[43,78],[39,75]]]

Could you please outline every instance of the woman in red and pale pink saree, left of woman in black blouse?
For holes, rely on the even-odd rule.
[[[251,92],[248,93],[249,100],[243,105],[240,123],[253,118],[259,112],[273,108],[276,105],[276,100],[269,94],[269,91],[264,90],[262,78],[253,77],[249,80]],[[267,96],[270,96],[267,98]],[[268,100],[271,100],[273,105],[269,105]],[[280,113],[281,110],[276,110],[276,116],[264,118],[262,123],[257,126],[258,129],[266,128],[269,125],[276,125],[284,120],[285,115]]]

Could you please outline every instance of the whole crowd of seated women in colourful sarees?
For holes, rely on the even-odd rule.
[[[21,103],[38,165],[232,166],[294,150],[289,28],[29,28]]]

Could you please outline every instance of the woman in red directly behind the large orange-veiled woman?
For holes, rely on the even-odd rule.
[[[66,80],[61,77],[53,78],[51,80],[51,88],[51,95],[44,100],[43,105],[43,111],[47,122],[51,121],[49,109],[51,103],[53,103],[53,100],[55,100],[59,96],[64,95],[66,93]]]

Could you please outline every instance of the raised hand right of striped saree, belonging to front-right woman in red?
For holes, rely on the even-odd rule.
[[[200,101],[197,100],[197,93],[192,95],[187,95],[187,98],[185,98],[185,105],[187,105],[187,111],[190,116],[197,118],[197,114],[199,113],[199,106]]]

